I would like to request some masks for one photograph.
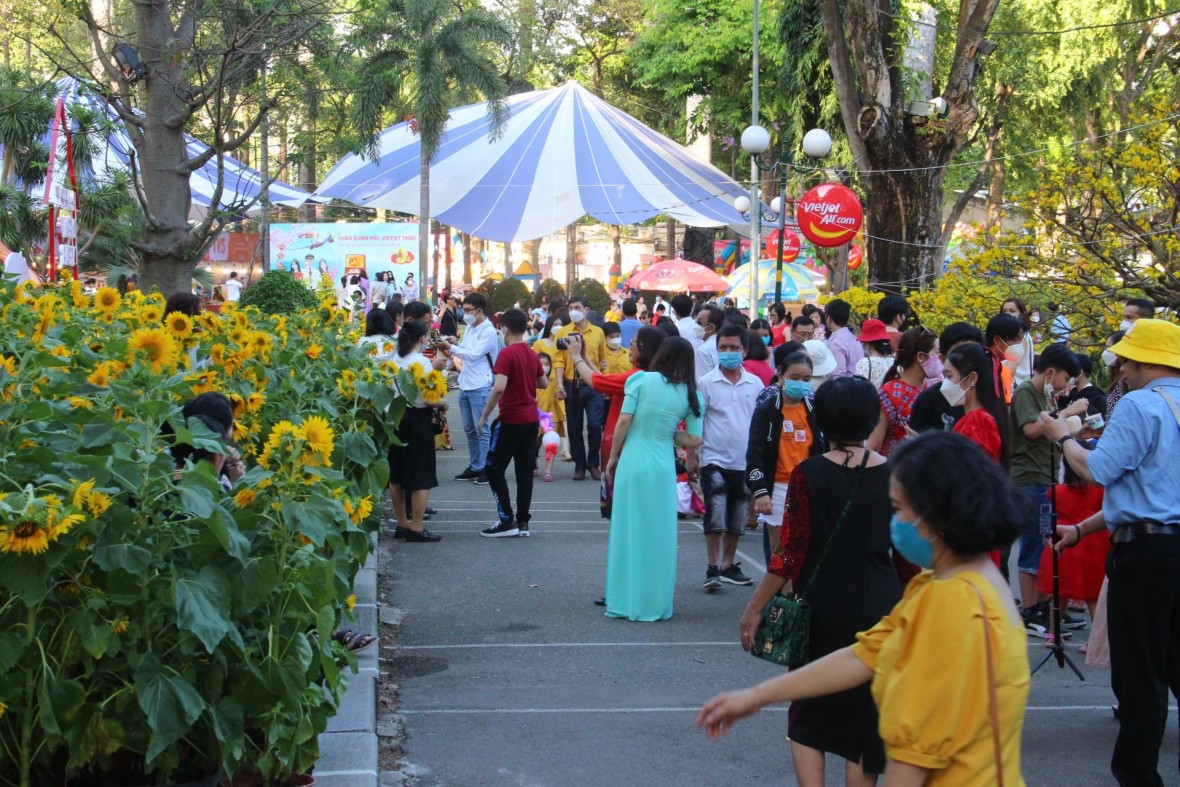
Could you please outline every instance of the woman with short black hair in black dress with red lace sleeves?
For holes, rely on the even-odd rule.
[[[742,648],[749,650],[766,603],[787,583],[805,590],[812,608],[811,661],[846,648],[902,596],[890,557],[890,472],[884,457],[865,448],[880,418],[877,389],[864,378],[828,380],[815,393],[814,417],[832,450],[805,459],[792,473],[779,547],[741,618]],[[867,683],[793,702],[787,734],[800,787],[822,787],[828,752],[847,761],[850,786],[873,785],[885,770]]]

